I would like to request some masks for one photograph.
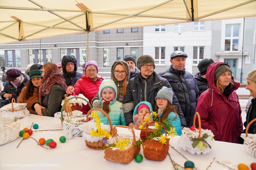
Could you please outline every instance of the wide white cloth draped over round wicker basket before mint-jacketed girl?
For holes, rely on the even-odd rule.
[[[104,125],[103,123],[100,123],[100,127],[104,130],[107,130],[108,132],[110,132],[110,125]],[[81,129],[83,131],[82,136],[84,138],[84,140],[87,140],[88,142],[98,142],[99,140],[102,140],[103,138],[105,138],[106,136],[91,136],[91,130],[92,129],[97,129],[95,122],[93,120],[84,123],[83,125],[81,125],[79,127],[79,129]]]

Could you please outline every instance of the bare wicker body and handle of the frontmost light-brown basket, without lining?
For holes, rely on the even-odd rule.
[[[135,157],[135,155],[138,154],[140,151],[139,145],[134,146],[134,144],[136,143],[136,137],[134,134],[134,130],[133,130],[133,128],[130,128],[129,126],[116,125],[113,128],[112,137],[114,137],[114,130],[116,127],[131,129],[133,132],[133,143],[129,148],[127,148],[125,150],[112,150],[112,148],[106,148],[105,152],[104,152],[105,153],[104,158],[106,160],[109,160],[112,162],[118,162],[118,163],[123,163],[123,164],[130,163],[133,160],[133,158]],[[138,141],[140,141],[140,140],[138,139]]]

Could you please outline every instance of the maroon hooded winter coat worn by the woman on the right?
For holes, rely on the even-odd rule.
[[[214,72],[223,62],[212,63],[206,73],[206,79],[210,88],[198,98],[196,111],[200,114],[201,126],[209,129],[218,141],[238,143],[238,137],[243,131],[241,107],[238,96],[234,92],[240,83],[234,82],[233,90],[228,100],[214,83]],[[198,119],[196,120],[198,127]]]

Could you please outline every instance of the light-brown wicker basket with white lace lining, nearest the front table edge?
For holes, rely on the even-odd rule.
[[[129,128],[133,132],[133,136],[131,135],[115,135],[114,130],[116,130],[116,127],[122,127],[122,128]],[[108,144],[117,144],[120,141],[126,140],[129,144],[126,148],[123,148],[122,150],[116,147],[106,148],[105,149],[105,156],[104,158],[106,160],[112,161],[112,162],[118,162],[127,164],[130,163],[136,154],[140,151],[140,145],[134,145],[137,141],[140,141],[139,137],[136,138],[134,134],[133,128],[130,128],[129,126],[123,126],[123,125],[116,125],[114,126],[112,130],[112,137],[110,137],[107,141]]]

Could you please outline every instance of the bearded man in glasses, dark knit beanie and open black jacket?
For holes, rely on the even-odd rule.
[[[157,92],[162,89],[163,86],[172,88],[165,78],[157,76],[157,73],[154,72],[155,61],[151,56],[144,55],[139,57],[137,66],[140,69],[140,73],[133,79],[130,79],[123,99],[123,104],[133,102],[133,110],[124,114],[126,125],[130,127],[134,126],[133,111],[139,102],[150,102],[154,108],[156,105],[155,97]],[[184,115],[181,112],[180,105],[175,94],[173,95],[173,104],[178,107],[181,126],[186,127]]]

